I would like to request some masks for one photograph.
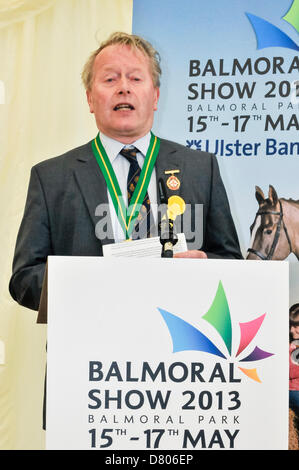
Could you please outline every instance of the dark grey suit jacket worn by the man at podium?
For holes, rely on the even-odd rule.
[[[196,248],[208,257],[242,258],[216,157],[161,139],[155,168],[157,181],[179,169],[180,188],[169,195],[203,204],[203,243]],[[32,168],[9,284],[18,303],[38,310],[48,255],[102,256],[102,245],[113,242],[95,235],[102,203],[107,186],[91,142]]]

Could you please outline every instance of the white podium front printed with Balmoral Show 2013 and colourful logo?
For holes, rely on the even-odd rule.
[[[46,448],[287,449],[287,262],[49,257]]]

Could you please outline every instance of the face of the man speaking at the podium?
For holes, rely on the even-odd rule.
[[[152,128],[158,99],[149,59],[139,49],[112,45],[97,55],[87,100],[105,135],[125,144],[143,137]]]

